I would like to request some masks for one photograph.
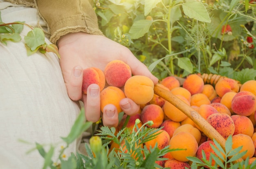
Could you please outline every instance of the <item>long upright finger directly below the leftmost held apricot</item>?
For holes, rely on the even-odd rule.
[[[101,117],[99,85],[89,85],[87,95],[83,95],[83,100],[86,119],[91,122],[97,122]]]

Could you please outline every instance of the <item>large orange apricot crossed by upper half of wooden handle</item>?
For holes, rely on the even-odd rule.
[[[184,101],[187,105],[190,105],[189,101],[186,98],[184,98],[184,96],[177,95],[177,97],[180,98],[182,101]],[[181,122],[182,120],[187,118],[186,114],[184,114],[177,107],[172,105],[170,102],[164,103],[163,110],[165,115],[175,122]]]

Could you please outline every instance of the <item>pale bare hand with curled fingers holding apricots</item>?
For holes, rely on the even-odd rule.
[[[130,66],[133,75],[147,76],[154,84],[158,82],[146,65],[137,60],[128,48],[104,36],[83,32],[69,33],[58,40],[58,50],[67,93],[72,100],[84,102],[88,121],[96,122],[101,116],[100,90],[98,85],[92,84],[88,87],[88,94],[82,94],[83,69],[97,67],[104,70],[110,61],[122,60]],[[120,105],[128,115],[139,110],[139,105],[128,98],[121,100]],[[114,105],[104,107],[102,119],[105,126],[117,126],[118,113]]]

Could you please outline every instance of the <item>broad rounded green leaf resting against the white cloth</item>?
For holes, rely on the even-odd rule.
[[[34,51],[40,45],[45,43],[45,34],[42,29],[35,28],[27,33],[27,36],[24,37],[24,40],[31,51]]]

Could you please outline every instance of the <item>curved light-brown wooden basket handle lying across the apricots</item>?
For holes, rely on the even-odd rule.
[[[163,89],[162,87],[159,87],[158,85],[155,85],[154,87],[154,93],[162,98],[164,98],[166,101],[170,102],[172,105],[177,107],[180,111],[182,111],[186,116],[188,116],[193,122],[195,122],[196,125],[200,127],[202,132],[209,137],[211,140],[213,138],[220,144],[220,146],[225,150],[225,138],[223,138],[214,127],[212,127],[207,120],[205,120],[198,112],[196,112],[193,108],[191,108],[189,105],[187,105],[185,102],[183,102],[180,98],[175,96],[170,91],[167,91]]]

